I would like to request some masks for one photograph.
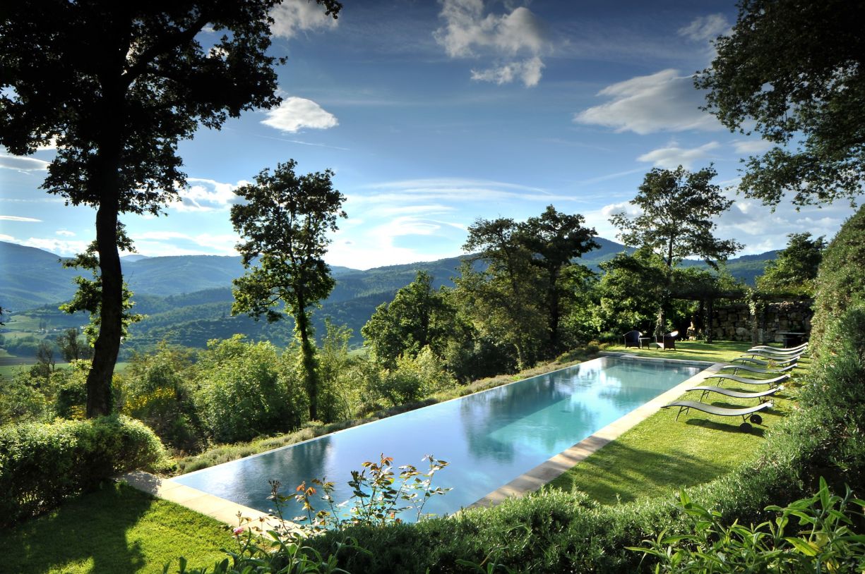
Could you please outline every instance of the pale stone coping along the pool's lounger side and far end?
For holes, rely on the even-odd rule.
[[[697,386],[708,376],[717,373],[726,363],[712,363],[703,360],[682,360],[682,359],[665,359],[663,357],[644,357],[643,355],[627,354],[627,353],[602,353],[608,356],[617,356],[622,359],[631,360],[649,360],[656,362],[675,363],[677,365],[692,365],[695,367],[707,367],[700,373],[696,373],[693,377],[682,381],[682,383],[674,386],[669,391],[662,392],[648,403],[639,406],[629,412],[622,418],[618,418],[604,428],[595,432],[591,437],[586,437],[579,443],[574,444],[567,450],[563,450],[558,455],[549,458],[546,462],[541,462],[534,469],[524,475],[517,476],[511,482],[508,482],[503,487],[493,490],[481,500],[471,504],[473,507],[492,507],[501,503],[505,499],[513,496],[522,496],[530,492],[535,492],[538,488],[548,482],[553,481],[560,475],[567,472],[568,469],[576,466],[578,462],[583,461],[587,456],[592,455],[601,447],[613,440],[617,439],[630,430],[638,423],[643,422],[655,414],[663,405],[666,405],[687,392],[691,387]]]

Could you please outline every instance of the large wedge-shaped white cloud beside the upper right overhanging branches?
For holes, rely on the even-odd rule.
[[[645,135],[654,131],[721,130],[714,116],[699,109],[702,92],[691,76],[667,69],[606,86],[598,92],[611,101],[573,116],[580,124],[605,125],[616,131]]]

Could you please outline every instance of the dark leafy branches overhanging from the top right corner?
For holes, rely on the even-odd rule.
[[[740,189],[776,206],[851,202],[865,165],[865,4],[741,0],[731,35],[698,73],[707,109],[731,131],[775,144],[752,156]]]

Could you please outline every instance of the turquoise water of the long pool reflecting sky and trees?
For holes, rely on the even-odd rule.
[[[378,462],[384,453],[394,457],[394,468],[426,469],[421,459],[432,454],[450,462],[433,486],[453,489],[432,497],[424,512],[454,513],[700,370],[602,357],[173,480],[268,511],[268,480],[293,494],[301,482],[326,477],[336,482],[336,501],[344,501],[351,494],[349,473],[362,462]],[[300,513],[291,505],[286,517]]]

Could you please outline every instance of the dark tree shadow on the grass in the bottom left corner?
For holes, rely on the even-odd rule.
[[[126,531],[153,504],[151,496],[118,485],[83,494],[60,508],[0,534],[3,568],[10,572],[137,572],[144,567],[140,541]],[[83,564],[90,563],[89,568]]]

